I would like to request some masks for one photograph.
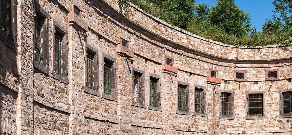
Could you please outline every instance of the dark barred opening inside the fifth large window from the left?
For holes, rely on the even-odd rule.
[[[112,65],[114,63],[107,59],[104,60],[104,90],[103,93],[111,95],[112,94]]]

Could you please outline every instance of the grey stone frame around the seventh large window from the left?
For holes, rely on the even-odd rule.
[[[155,78],[157,79],[157,107],[156,106],[150,106],[150,78]],[[161,76],[157,75],[157,74],[154,74],[154,73],[149,73],[148,75],[148,91],[149,91],[149,94],[148,94],[148,109],[150,110],[156,110],[156,111],[162,111],[162,108],[161,108]]]

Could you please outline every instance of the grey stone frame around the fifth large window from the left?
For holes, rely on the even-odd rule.
[[[114,80],[112,81],[112,88],[111,88],[111,95],[104,93],[105,85],[104,85],[104,76],[105,76],[105,69],[104,69],[104,62],[105,59],[110,60],[113,62],[112,64],[112,78]],[[109,56],[105,53],[102,53],[102,98],[109,99],[112,101],[117,101],[117,60],[116,58]]]

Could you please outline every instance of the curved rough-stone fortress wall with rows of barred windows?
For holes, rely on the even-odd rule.
[[[80,18],[73,14],[74,5]],[[292,88],[291,45],[225,45],[170,26],[132,4],[125,15],[117,0],[24,0],[12,6],[17,11],[15,41],[0,40],[1,134],[292,134],[292,117],[282,118],[278,93]],[[34,8],[47,14],[45,70],[34,64]],[[65,77],[54,73],[55,26],[67,36]],[[128,48],[121,47],[121,38]],[[87,48],[98,56],[93,92],[85,87]],[[115,59],[116,99],[103,96],[107,56]],[[173,66],[165,65],[166,57],[173,58]],[[217,78],[210,78],[210,69]],[[132,104],[133,70],[144,72],[141,106]],[[246,80],[235,79],[239,70],[246,71]],[[278,78],[266,78],[267,70],[277,70]],[[149,107],[152,74],[161,77],[160,110]],[[177,113],[180,82],[189,86],[189,114]],[[194,114],[198,86],[206,92],[201,116]],[[230,119],[220,117],[220,92],[227,90],[234,92]],[[258,91],[264,95],[265,118],[246,118],[246,93]]]

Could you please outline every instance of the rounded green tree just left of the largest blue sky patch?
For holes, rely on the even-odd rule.
[[[210,19],[213,24],[237,37],[242,37],[251,30],[251,17],[240,10],[234,0],[217,0],[217,5],[212,7]]]

